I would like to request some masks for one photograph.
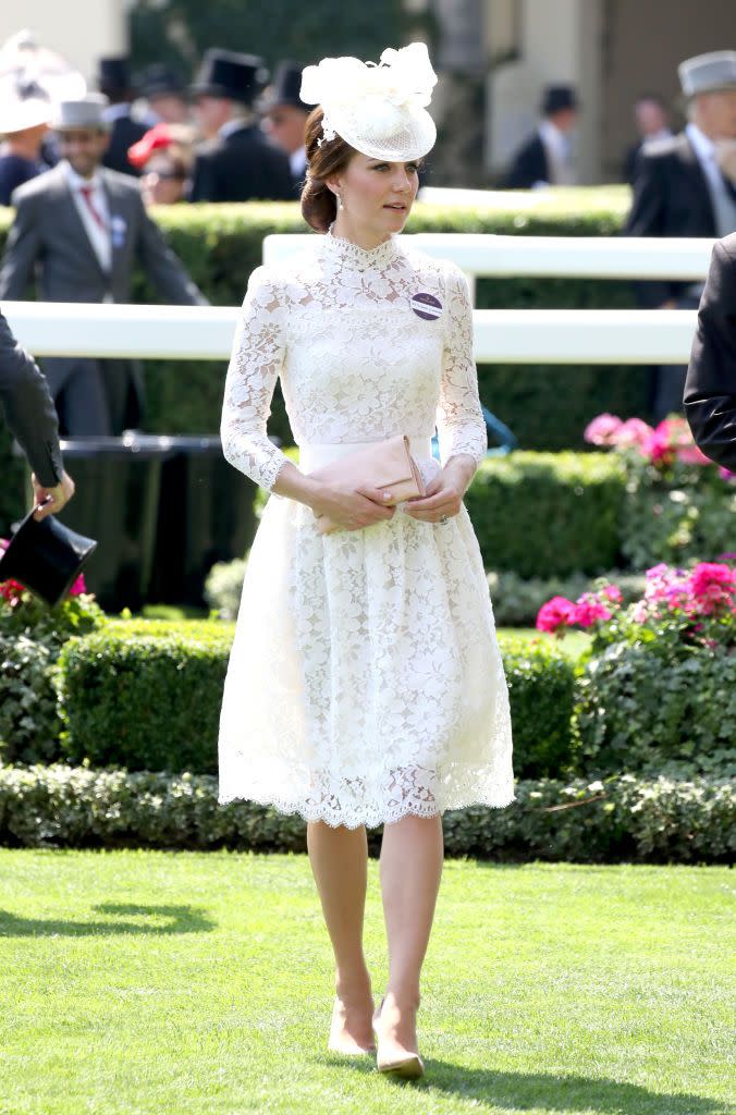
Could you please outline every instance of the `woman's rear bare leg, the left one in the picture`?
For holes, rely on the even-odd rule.
[[[336,964],[336,1004],[330,1048],[360,1053],[372,1048],[370,976],[362,951],[368,841],[366,830],[307,826],[307,847]]]

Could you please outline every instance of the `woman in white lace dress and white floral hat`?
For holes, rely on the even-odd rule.
[[[273,494],[251,550],[223,698],[220,801],[308,822],[335,950],[329,1046],[401,1076],[443,862],[442,813],[513,799],[509,698],[464,493],[486,449],[467,283],[397,241],[435,128],[426,48],[304,71],[302,212],[323,233],[251,275],[227,371],[227,459]],[[267,437],[277,378],[299,467]],[[435,423],[442,465],[433,459]],[[310,478],[405,434],[426,496]],[[321,534],[317,516],[338,530]],[[389,979],[372,1018],[362,952],[366,825],[382,824]]]

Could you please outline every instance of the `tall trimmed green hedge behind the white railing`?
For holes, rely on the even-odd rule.
[[[511,235],[609,236],[622,225],[629,205],[627,187],[561,190],[523,210],[444,209],[417,205],[408,232],[487,232]],[[0,252],[11,210],[0,207]],[[155,212],[174,251],[216,306],[239,306],[248,278],[261,262],[268,233],[309,234],[296,203],[164,206]],[[142,275],[135,299],[156,301]],[[480,308],[619,308],[633,304],[630,285],[588,279],[483,279],[477,283]],[[185,372],[185,375],[184,375]],[[223,361],[162,360],[145,370],[145,428],[161,434],[210,434],[219,429]],[[482,366],[483,401],[520,438],[524,448],[582,448],[581,432],[597,414],[647,416],[647,377],[641,368],[606,369],[580,366]],[[182,390],[182,384],[186,389]],[[289,432],[283,401],[274,399],[271,433],[285,444]],[[0,442],[0,473],[8,467],[8,443]],[[19,475],[17,464],[13,475]],[[3,485],[0,524],[22,511],[19,489]]]

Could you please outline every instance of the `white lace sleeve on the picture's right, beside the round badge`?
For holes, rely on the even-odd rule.
[[[437,407],[437,433],[443,465],[458,453],[480,464],[488,445],[478,379],[473,359],[473,307],[462,271],[448,265],[445,275],[447,326]]]

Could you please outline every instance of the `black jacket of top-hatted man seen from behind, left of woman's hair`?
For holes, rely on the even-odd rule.
[[[293,201],[289,158],[256,124],[197,147],[190,201]]]

